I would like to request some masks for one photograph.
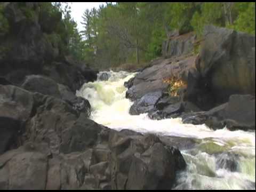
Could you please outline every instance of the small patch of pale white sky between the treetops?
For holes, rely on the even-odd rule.
[[[78,31],[83,30],[83,26],[81,22],[83,21],[82,15],[86,9],[92,9],[93,7],[98,8],[101,4],[105,4],[105,2],[70,2],[68,3],[71,7],[71,17],[77,23]]]

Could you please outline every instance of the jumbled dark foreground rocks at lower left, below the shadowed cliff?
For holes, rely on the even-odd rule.
[[[110,130],[17,86],[0,93],[0,189],[171,189],[186,167],[156,135]]]

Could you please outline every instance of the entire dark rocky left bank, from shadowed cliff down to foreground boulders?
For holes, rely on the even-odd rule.
[[[98,71],[62,55],[43,20],[5,6],[11,26],[0,46],[12,49],[0,54],[0,189],[170,189],[186,167],[180,151],[90,120],[89,101],[74,92]]]

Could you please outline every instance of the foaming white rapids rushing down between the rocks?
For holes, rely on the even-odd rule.
[[[125,98],[124,82],[135,74],[108,73],[108,81],[86,83],[77,91],[78,96],[90,101],[91,119],[118,131],[194,138],[198,143],[181,151],[188,166],[178,173],[174,189],[255,189],[255,132],[213,131],[205,125],[182,124],[180,118],[156,121],[147,114],[130,115],[132,102]],[[220,157],[233,157],[234,161],[226,164],[234,170],[218,168],[225,165],[218,161]]]

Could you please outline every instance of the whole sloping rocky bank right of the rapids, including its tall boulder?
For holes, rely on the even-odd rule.
[[[188,40],[190,37],[195,38],[193,34],[170,37],[173,46],[164,42],[163,58],[151,61],[149,67],[126,83],[126,98],[134,101],[130,113],[149,113],[153,119],[181,116],[183,122],[206,123],[214,129],[223,126],[231,130],[255,129],[252,117],[255,100],[251,99],[254,96],[246,95],[255,95],[255,36],[206,26],[197,56],[185,55],[188,47],[193,47],[194,40]],[[184,46],[187,49],[181,49],[184,39],[190,42],[189,46]],[[169,55],[168,49],[172,50]],[[165,59],[166,55],[171,58]],[[166,94],[172,87],[163,79],[170,77],[186,82],[177,92],[178,97]],[[145,105],[143,101],[150,100],[153,92],[162,95],[154,103]],[[217,115],[216,111],[224,112]]]

